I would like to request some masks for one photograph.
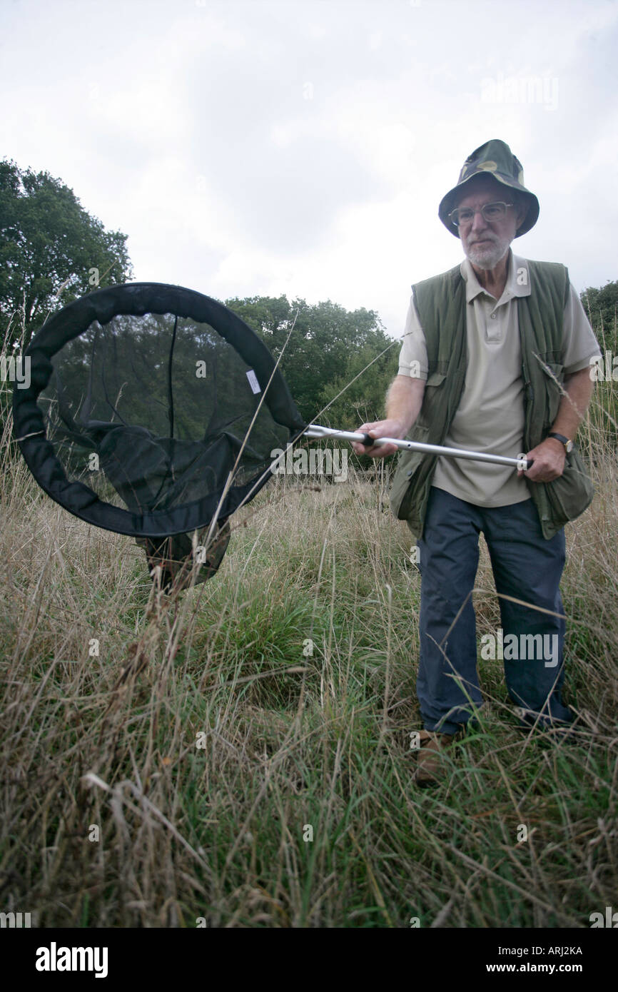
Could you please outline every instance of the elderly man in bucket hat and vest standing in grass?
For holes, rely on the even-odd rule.
[[[520,722],[564,728],[574,718],[560,694],[558,586],[563,526],[592,499],[572,442],[590,401],[590,362],[600,354],[566,269],[510,248],[536,223],[539,201],[508,145],[492,140],[476,149],[438,215],[466,258],[413,286],[386,420],[359,430],[525,453],[534,465],[524,472],[419,452],[400,457],[391,504],[418,539],[422,575],[420,786],[439,781],[442,748],[482,702],[471,601],[481,531],[500,597],[505,679]],[[354,449],[376,458],[395,451],[392,444]]]

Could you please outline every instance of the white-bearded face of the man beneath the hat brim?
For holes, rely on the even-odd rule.
[[[489,176],[475,179],[455,206],[468,206],[478,212],[467,224],[459,225],[459,237],[465,255],[479,269],[494,269],[509,250],[517,228],[525,216],[525,207],[510,206],[504,220],[487,221],[480,212],[485,203],[512,203],[514,196],[508,186],[496,183]],[[463,190],[462,190],[463,191]]]

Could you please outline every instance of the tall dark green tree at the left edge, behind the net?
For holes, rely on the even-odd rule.
[[[127,235],[107,231],[49,173],[0,162],[0,337],[24,328],[23,347],[50,310],[133,272]],[[21,319],[20,319],[21,314]],[[21,334],[16,334],[21,336]]]

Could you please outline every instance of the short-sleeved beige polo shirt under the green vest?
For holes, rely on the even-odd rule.
[[[507,282],[500,300],[478,282],[469,259],[465,280],[468,364],[457,412],[444,438],[448,447],[506,454],[524,452],[524,382],[517,298],[530,296],[528,263],[509,249]],[[601,351],[573,287],[564,308],[562,365],[565,375],[589,366]],[[428,357],[419,314],[410,301],[399,374],[427,379]],[[509,506],[530,498],[517,471],[503,465],[439,457],[433,483],[476,506]]]

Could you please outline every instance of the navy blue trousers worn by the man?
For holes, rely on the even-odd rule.
[[[563,613],[559,581],[564,531],[546,541],[532,499],[485,509],[432,486],[423,539],[418,542],[422,577],[417,693],[424,726],[453,734],[482,702],[476,663],[483,649],[476,638],[470,595],[481,531],[499,593],[505,656],[498,657],[499,634],[494,632],[497,658],[488,664],[504,664],[511,699],[535,714],[527,717],[529,722],[570,722],[574,714],[560,697],[564,620],[500,595]],[[487,640],[485,644],[489,652],[491,645]]]

